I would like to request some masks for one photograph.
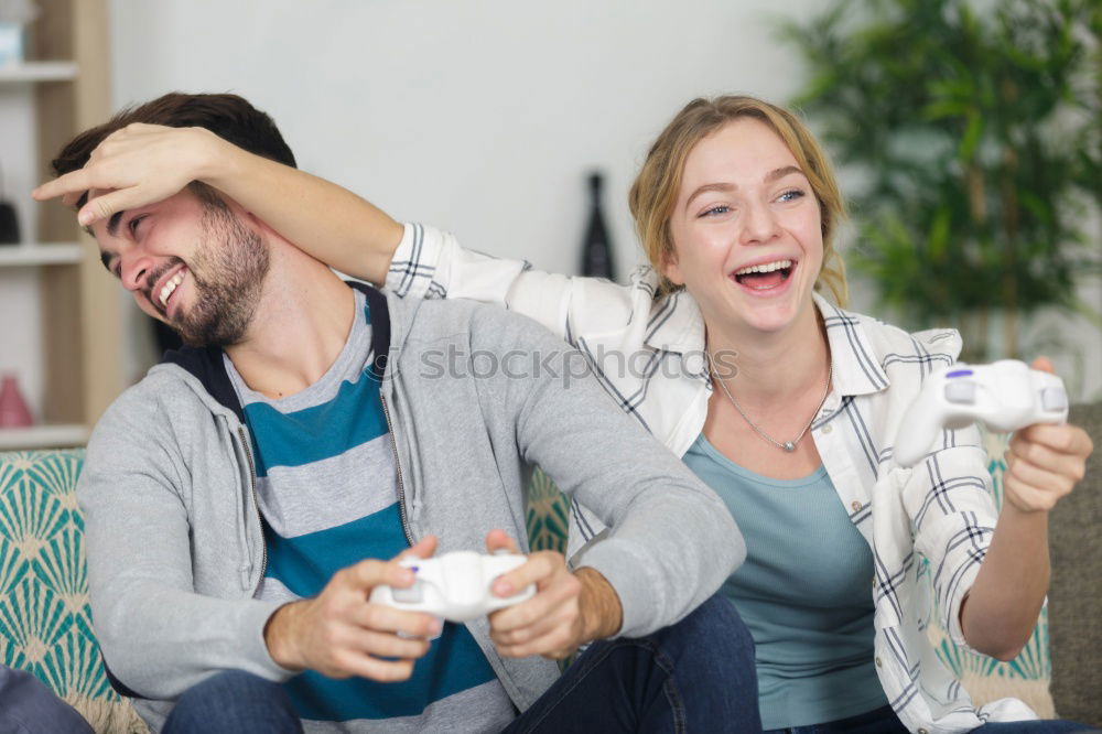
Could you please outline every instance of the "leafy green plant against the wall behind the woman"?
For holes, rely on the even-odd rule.
[[[883,306],[960,327],[973,361],[1016,356],[1045,306],[1102,323],[1076,288],[1100,265],[1098,2],[839,1],[781,32],[811,72],[795,104],[856,183],[849,262]]]

